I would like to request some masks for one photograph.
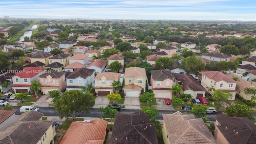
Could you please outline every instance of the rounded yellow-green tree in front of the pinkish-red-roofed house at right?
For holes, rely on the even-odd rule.
[[[230,100],[228,100],[229,98],[232,98],[233,94],[231,92],[228,92],[227,90],[218,90],[213,92],[212,94],[212,99],[220,102],[221,105],[221,109],[223,108],[223,105],[225,103],[230,103]]]

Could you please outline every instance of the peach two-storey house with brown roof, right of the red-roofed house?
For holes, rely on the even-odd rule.
[[[49,91],[58,90],[61,92],[62,88],[65,88],[65,73],[64,72],[50,72],[44,73],[39,76],[39,82],[41,84],[41,92],[48,94]]]

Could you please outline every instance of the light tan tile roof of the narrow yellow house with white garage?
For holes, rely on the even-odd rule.
[[[138,77],[147,79],[145,68],[130,67],[125,69],[124,78],[138,78]]]

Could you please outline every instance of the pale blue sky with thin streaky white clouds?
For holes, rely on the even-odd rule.
[[[256,0],[1,0],[0,17],[256,21]]]

